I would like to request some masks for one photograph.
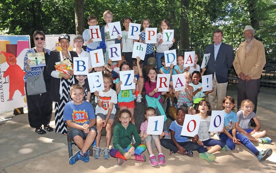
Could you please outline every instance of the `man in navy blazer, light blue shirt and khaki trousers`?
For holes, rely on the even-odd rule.
[[[214,44],[206,46],[204,53],[210,53],[204,75],[213,75],[214,91],[208,94],[208,101],[212,110],[222,110],[222,100],[226,96],[228,85],[228,70],[233,65],[234,51],[232,46],[222,42],[223,31],[217,29],[213,33]],[[214,108],[215,98],[218,104]]]

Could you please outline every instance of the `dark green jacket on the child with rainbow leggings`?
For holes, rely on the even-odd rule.
[[[122,155],[126,153],[125,148],[131,143],[132,134],[136,143],[133,147],[136,149],[138,145],[141,144],[141,138],[138,134],[138,131],[134,124],[129,123],[127,129],[122,126],[122,123],[117,123],[113,130],[113,146],[116,148]]]

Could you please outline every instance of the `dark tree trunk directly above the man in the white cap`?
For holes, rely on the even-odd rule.
[[[258,0],[248,0],[248,11],[250,15],[250,22],[252,27],[255,30],[260,29],[260,24],[259,24],[259,17],[257,14],[257,1]]]

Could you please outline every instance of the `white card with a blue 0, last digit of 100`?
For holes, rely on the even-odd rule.
[[[224,124],[224,110],[213,110],[209,132],[219,132],[223,129]]]

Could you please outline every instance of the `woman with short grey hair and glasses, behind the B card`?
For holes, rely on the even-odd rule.
[[[73,49],[78,54],[78,57],[88,57],[88,66],[89,66],[89,73],[92,71],[92,63],[90,58],[90,53],[83,50],[82,46],[84,43],[84,39],[82,35],[76,35],[73,39],[73,45],[75,48]]]

